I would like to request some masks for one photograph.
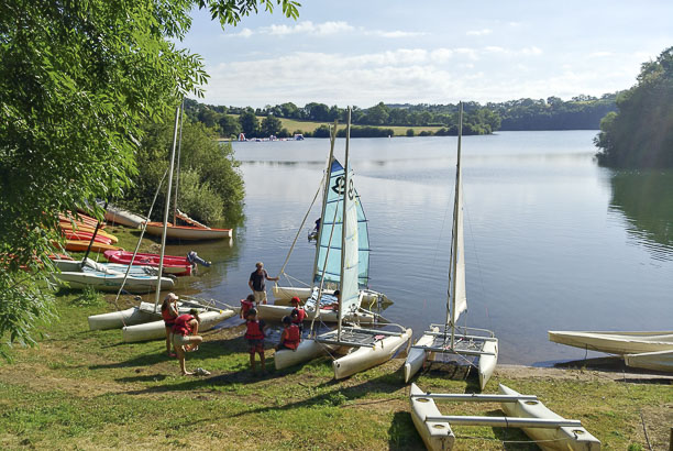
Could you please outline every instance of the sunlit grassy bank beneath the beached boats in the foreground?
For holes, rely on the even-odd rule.
[[[124,308],[132,302],[125,299]],[[239,320],[207,332],[188,369],[212,372],[181,377],[164,343],[125,344],[119,330],[88,331],[87,316],[113,310],[110,297],[62,292],[60,320],[44,328],[36,349],[14,349],[0,366],[0,448],[198,449],[418,449],[408,414],[408,387],[396,359],[343,382],[320,359],[290,371],[254,376]],[[269,343],[271,344],[271,343]],[[273,351],[267,351],[271,358]],[[617,375],[619,378],[619,375]],[[604,373],[543,369],[498,370],[497,382],[537,394],[547,406],[583,421],[604,449],[644,448],[643,415],[652,446],[668,441],[670,381],[621,382]],[[473,376],[449,380],[430,372],[428,391],[474,392]],[[452,414],[495,414],[498,406],[456,404]],[[457,449],[498,450],[527,440],[516,430],[456,428]],[[522,448],[521,448],[522,447]],[[517,446],[516,449],[534,449]]]

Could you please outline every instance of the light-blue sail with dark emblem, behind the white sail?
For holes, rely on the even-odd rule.
[[[318,260],[316,274],[313,275],[313,284],[316,285],[320,285],[324,276],[324,287],[329,289],[339,288],[341,277],[344,176],[345,172],[341,163],[336,160],[332,160],[330,179],[327,185],[328,195],[320,223],[320,241],[316,249]],[[350,177],[352,177],[352,172]],[[369,235],[367,219],[362,208],[362,202],[360,201],[360,195],[355,188],[353,188],[353,200],[357,212],[357,285],[358,288],[367,288],[369,283]]]

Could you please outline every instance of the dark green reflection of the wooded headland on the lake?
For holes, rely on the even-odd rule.
[[[626,218],[627,231],[658,260],[673,260],[673,173],[615,172],[609,209]]]

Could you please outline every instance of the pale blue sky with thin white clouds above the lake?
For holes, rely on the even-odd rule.
[[[673,45],[673,1],[304,0],[224,31],[207,11],[178,46],[211,105],[358,106],[599,97]]]

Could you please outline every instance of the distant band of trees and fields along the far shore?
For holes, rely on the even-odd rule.
[[[489,134],[497,130],[597,130],[600,120],[614,111],[617,94],[606,94],[600,98],[577,96],[564,101],[558,97],[548,99],[519,99],[506,102],[465,102],[463,118],[464,134]],[[327,125],[315,132],[300,128],[288,130],[279,118],[294,121],[330,123],[344,122],[345,109],[338,106],[310,102],[298,107],[293,102],[264,108],[224,107],[199,103],[188,100],[187,114],[195,121],[214,129],[221,136],[278,138],[302,133],[306,136],[329,136]],[[369,108],[354,107],[351,116],[353,136],[388,136],[395,134],[389,127],[433,127],[428,135],[455,135],[457,133],[457,105],[409,105],[379,102]],[[407,135],[413,135],[409,129]]]

